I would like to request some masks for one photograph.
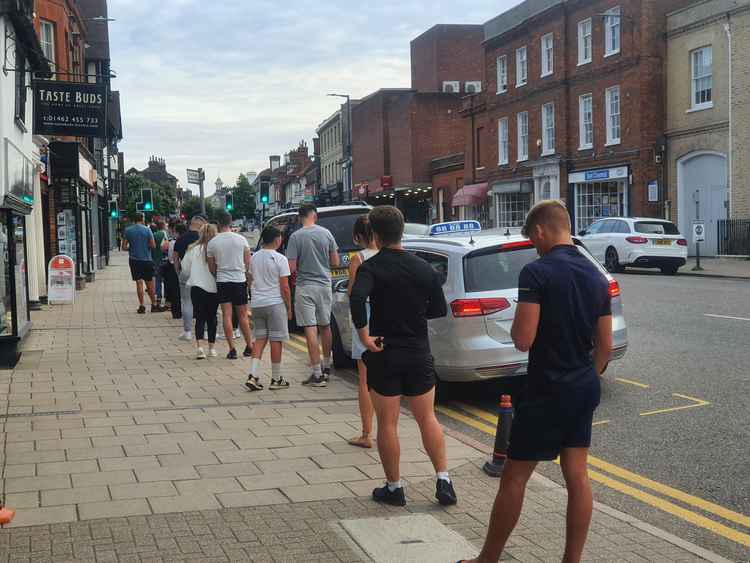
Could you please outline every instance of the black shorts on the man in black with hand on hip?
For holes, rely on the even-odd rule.
[[[416,397],[435,387],[435,361],[427,350],[394,348],[362,354],[367,386],[384,397]]]

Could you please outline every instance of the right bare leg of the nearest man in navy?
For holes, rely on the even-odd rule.
[[[594,499],[589,482],[588,454],[588,448],[565,448],[560,453],[560,466],[568,489],[563,563],[581,560],[591,523]]]

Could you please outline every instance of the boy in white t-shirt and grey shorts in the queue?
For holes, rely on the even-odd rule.
[[[250,264],[252,278],[253,362],[245,387],[260,391],[258,379],[260,360],[266,342],[271,342],[271,384],[269,389],[288,389],[289,382],[281,375],[283,343],[289,340],[289,320],[292,318],[292,294],[289,289],[289,261],[277,250],[281,246],[281,231],[268,226],[260,236],[261,250],[253,255]]]

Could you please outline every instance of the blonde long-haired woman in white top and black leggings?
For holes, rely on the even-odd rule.
[[[216,233],[215,225],[204,225],[200,230],[200,238],[188,248],[181,262],[182,272],[187,277],[186,286],[190,289],[190,299],[193,303],[195,345],[198,349],[196,357],[199,360],[206,359],[206,353],[203,351],[203,336],[206,327],[208,327],[208,355],[216,357],[216,311],[219,308],[219,298],[216,293],[216,280],[208,269],[206,256],[208,243],[216,236]]]

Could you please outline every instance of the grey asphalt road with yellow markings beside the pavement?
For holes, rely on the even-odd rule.
[[[750,283],[618,280],[630,348],[610,366],[595,417],[596,499],[749,560]],[[491,444],[496,398],[516,389],[512,381],[443,386],[441,418]],[[539,471],[562,482],[554,463]]]

